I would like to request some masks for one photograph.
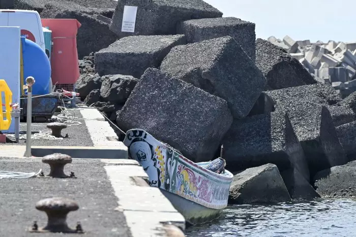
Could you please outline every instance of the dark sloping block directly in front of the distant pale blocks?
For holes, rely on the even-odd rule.
[[[269,90],[316,83],[298,59],[262,39],[256,40],[256,65],[266,78]]]

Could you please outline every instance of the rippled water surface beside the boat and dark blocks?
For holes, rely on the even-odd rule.
[[[356,200],[229,206],[219,220],[190,227],[186,236],[356,236]]]

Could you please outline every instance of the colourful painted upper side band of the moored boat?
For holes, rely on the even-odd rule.
[[[150,186],[175,193],[205,207],[226,207],[231,180],[208,175],[200,166],[143,130],[128,131],[124,144],[129,149],[130,158],[136,159],[149,176]]]

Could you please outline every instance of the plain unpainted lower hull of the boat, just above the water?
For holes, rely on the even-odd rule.
[[[163,195],[171,202],[173,207],[180,212],[190,225],[210,222],[220,217],[223,209],[212,209],[201,206],[194,201],[161,189]]]

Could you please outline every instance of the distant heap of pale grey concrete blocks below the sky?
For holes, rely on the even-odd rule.
[[[356,91],[356,43],[328,43],[310,40],[294,41],[289,36],[283,40],[275,37],[271,43],[299,60],[319,82],[330,82],[343,98]]]

